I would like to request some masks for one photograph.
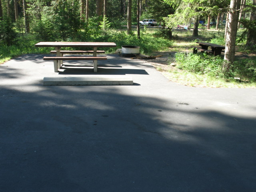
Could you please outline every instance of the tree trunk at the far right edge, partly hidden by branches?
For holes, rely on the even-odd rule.
[[[256,0],[252,1],[252,5],[256,5]],[[250,21],[256,21],[256,8],[252,7],[252,12],[250,15]],[[256,36],[255,30],[253,28],[248,29],[248,36],[246,41],[246,47],[249,49],[255,48],[256,45]]]

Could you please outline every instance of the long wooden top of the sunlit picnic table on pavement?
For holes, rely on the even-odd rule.
[[[39,42],[36,47],[116,47],[113,42]]]

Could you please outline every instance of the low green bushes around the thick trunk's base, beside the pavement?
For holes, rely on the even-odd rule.
[[[223,70],[225,61],[220,56],[182,52],[176,53],[175,58],[179,69],[196,74],[206,74],[210,77],[226,80],[237,78],[241,81],[256,81],[255,60],[239,60],[234,62],[229,70]]]

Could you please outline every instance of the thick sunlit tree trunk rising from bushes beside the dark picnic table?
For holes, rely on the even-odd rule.
[[[229,70],[230,63],[233,63],[235,60],[235,48],[236,48],[236,33],[237,33],[237,23],[240,9],[240,0],[231,0],[227,34],[226,34],[226,45],[225,45],[225,55],[224,60],[228,61],[223,66],[223,70]]]

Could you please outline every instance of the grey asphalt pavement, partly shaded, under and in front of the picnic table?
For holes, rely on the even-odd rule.
[[[54,73],[42,55],[0,66],[1,192],[255,191],[255,89],[182,86],[145,61],[108,58],[97,75],[134,85],[43,86],[95,74]]]

